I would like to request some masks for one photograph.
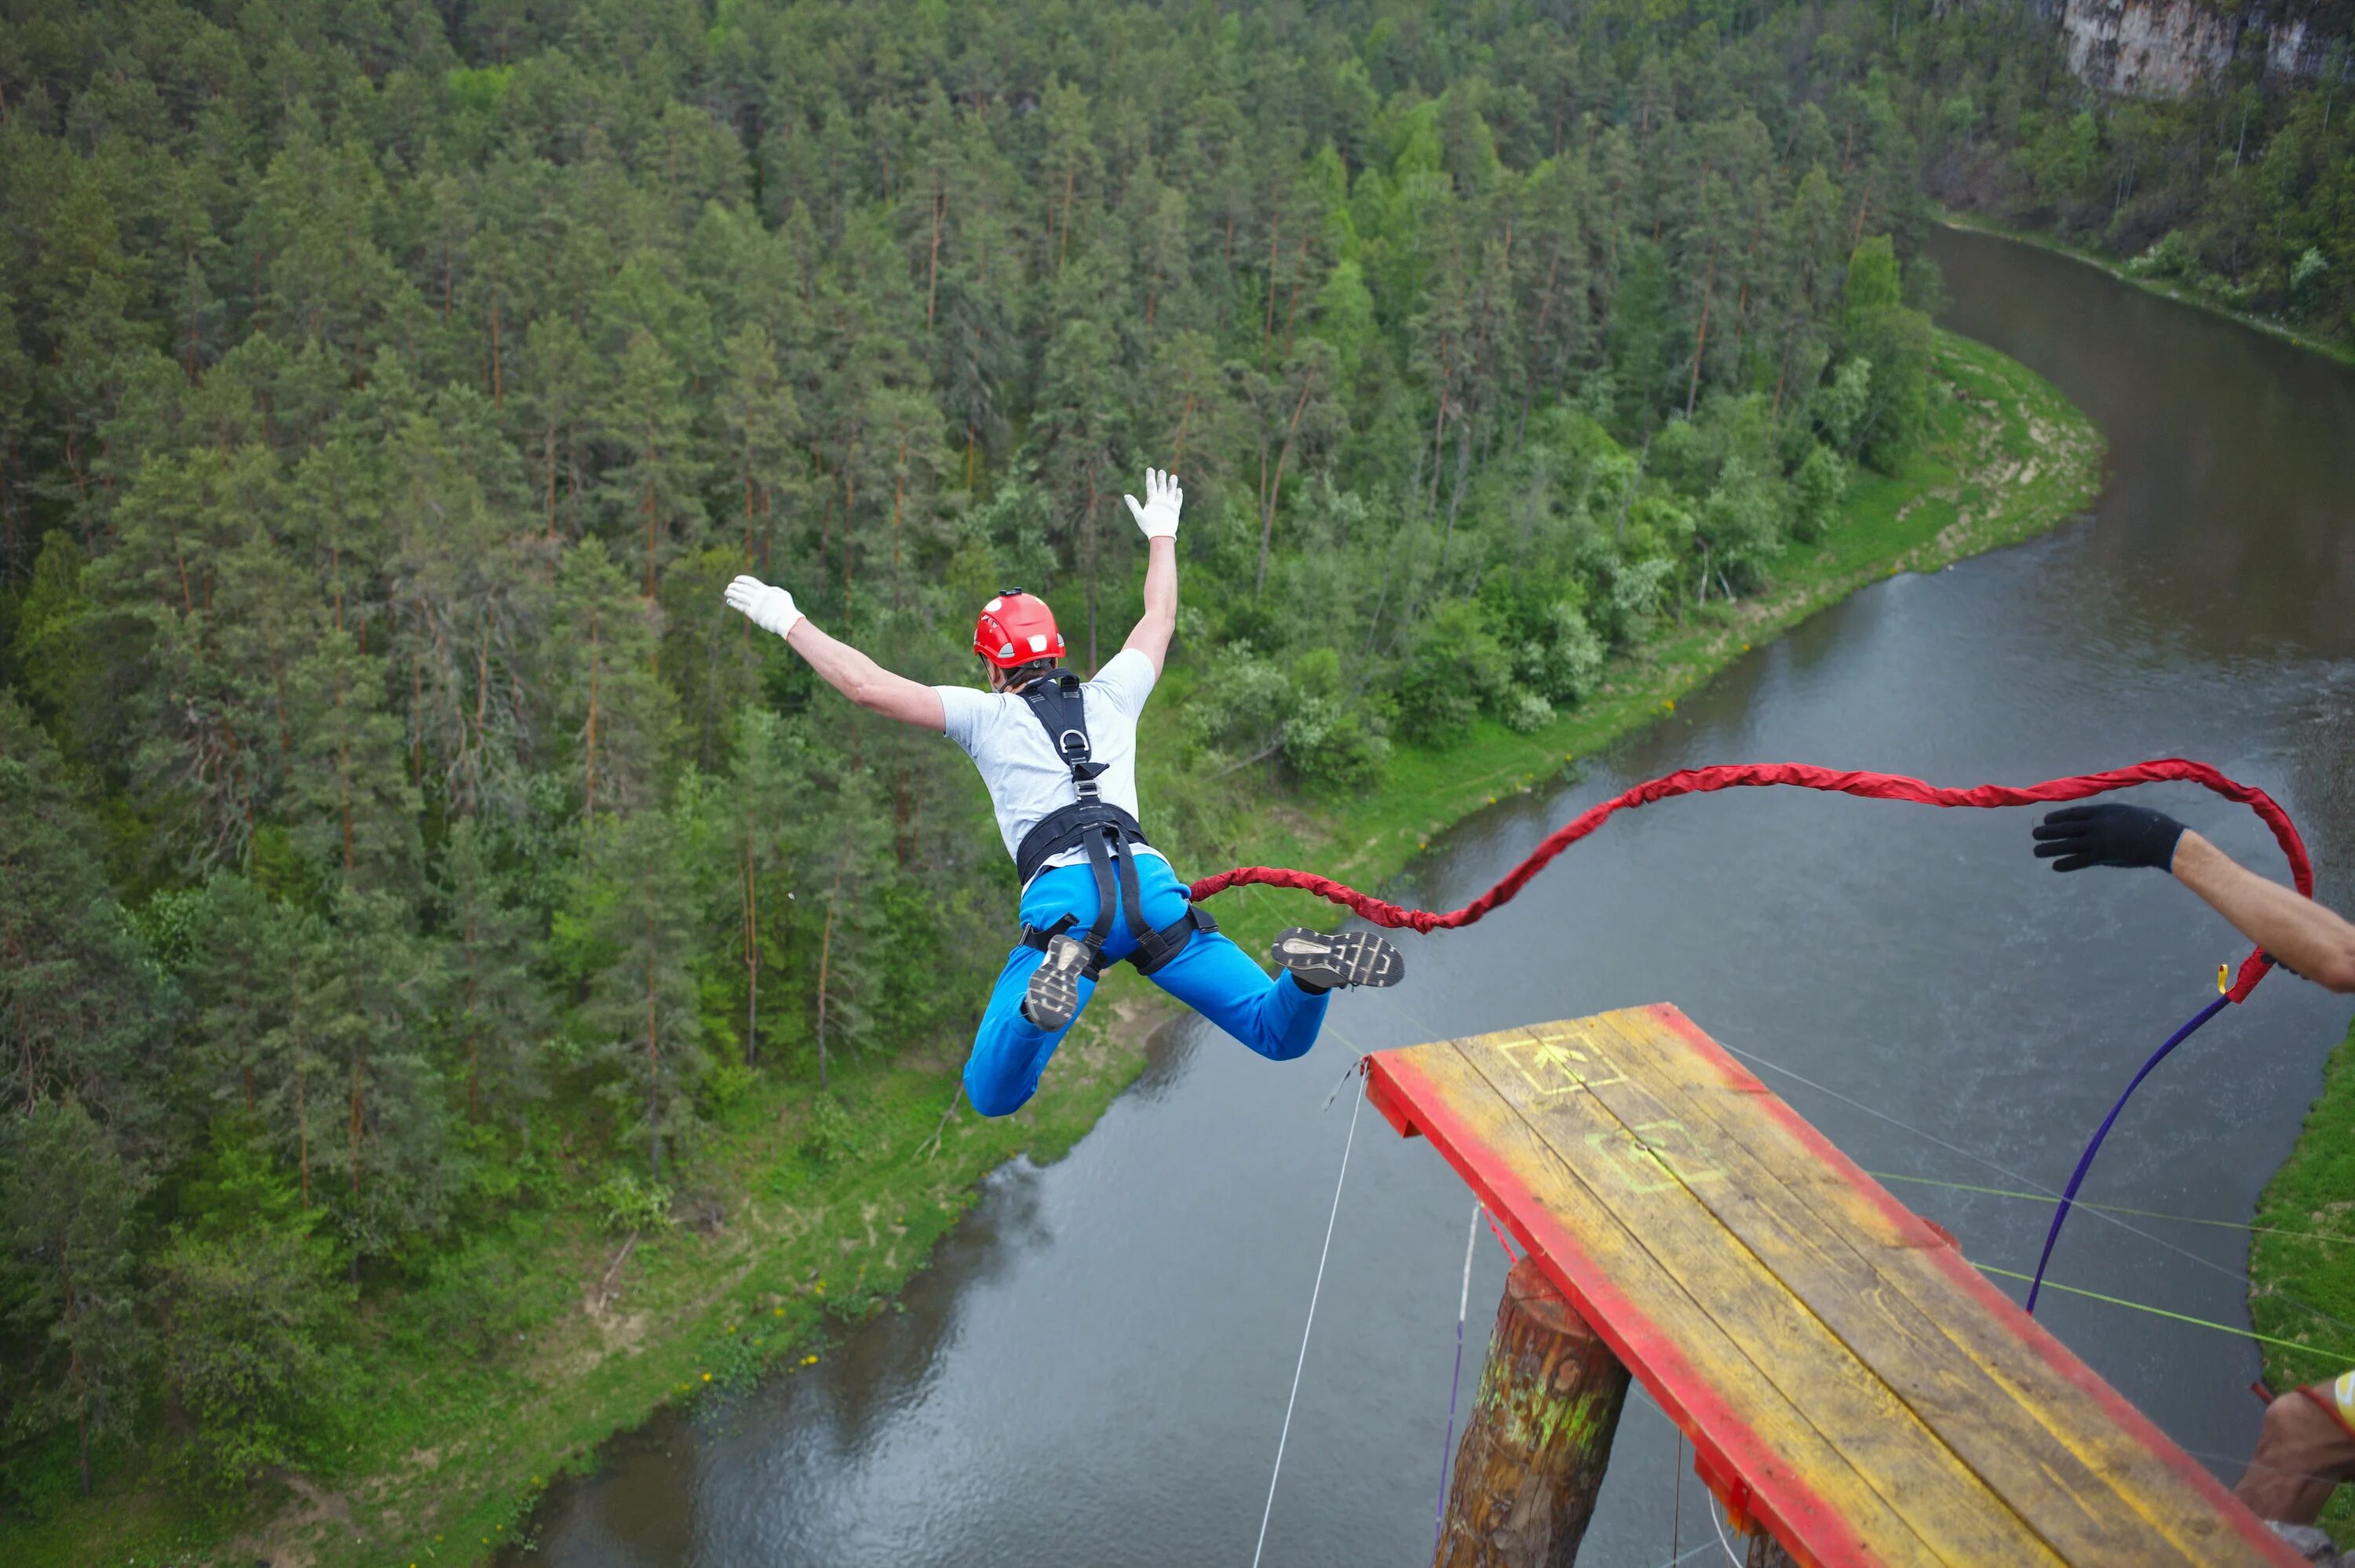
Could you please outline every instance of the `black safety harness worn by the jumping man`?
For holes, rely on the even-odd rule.
[[[1145,892],[1137,888],[1137,862],[1128,845],[1145,843],[1145,829],[1119,805],[1104,800],[1097,777],[1104,763],[1095,760],[1088,742],[1088,699],[1079,676],[1067,669],[1050,669],[1020,692],[1031,716],[1046,730],[1055,758],[1072,770],[1072,805],[1062,805],[1031,826],[1015,850],[1015,876],[1027,888],[1039,869],[1064,850],[1086,850],[1088,869],[1095,873],[1095,923],[1072,935],[1079,916],[1062,916],[1053,925],[1024,925],[1022,944],[1048,956],[1055,975],[1086,975],[1095,979],[1112,961],[1104,958],[1104,937],[1112,935],[1114,904],[1128,916],[1128,935],[1137,946],[1128,963],[1140,975],[1152,975],[1185,951],[1196,930],[1218,930],[1201,906],[1187,904],[1185,913],[1159,930],[1145,923]],[[1074,951],[1079,949],[1079,951]],[[1072,1001],[1076,1012],[1076,994]]]

